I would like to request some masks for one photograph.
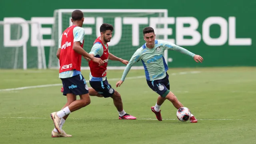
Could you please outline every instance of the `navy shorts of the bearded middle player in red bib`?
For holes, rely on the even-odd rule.
[[[91,87],[96,90],[99,94],[104,96],[104,98],[111,97],[115,90],[111,87],[110,84],[108,84],[108,80],[104,81],[89,81]]]

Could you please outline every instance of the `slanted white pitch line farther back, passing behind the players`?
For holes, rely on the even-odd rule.
[[[178,72],[178,73],[172,73],[171,75],[180,75],[180,74],[198,74],[200,71],[191,71],[191,72]],[[133,76],[133,77],[127,77],[126,80],[132,80],[132,79],[138,79],[138,78],[145,78],[145,76]],[[120,80],[120,78],[110,78],[108,81],[114,81],[114,80]],[[86,82],[89,82],[86,80]],[[12,90],[25,90],[30,88],[44,88],[44,87],[51,87],[51,86],[62,86],[62,84],[45,84],[45,85],[38,85],[38,86],[25,86],[20,88],[7,88],[7,89],[0,89],[0,92],[3,91],[12,91]]]

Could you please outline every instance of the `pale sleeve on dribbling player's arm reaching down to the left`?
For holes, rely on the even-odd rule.
[[[126,68],[124,69],[124,73],[122,75],[121,80],[124,81],[126,78],[128,72],[132,68],[132,65],[135,64],[136,62],[140,61],[141,59],[141,50],[140,48],[136,50],[136,52],[132,55],[132,58],[130,59],[129,63],[127,64]]]

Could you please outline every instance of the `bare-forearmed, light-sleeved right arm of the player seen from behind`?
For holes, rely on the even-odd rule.
[[[79,29],[78,29],[79,28]],[[78,54],[81,54],[82,56],[86,58],[90,58],[92,61],[97,62],[98,64],[102,65],[103,61],[100,58],[95,58],[91,54],[88,54],[82,47],[81,44],[84,40],[84,29],[77,27],[74,36],[74,43],[73,43],[73,50],[77,52]]]

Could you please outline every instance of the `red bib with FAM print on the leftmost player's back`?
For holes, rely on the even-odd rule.
[[[74,35],[73,29],[76,26],[70,26],[64,30],[61,39],[61,50],[60,50],[60,70],[66,72],[69,70],[81,70],[81,58],[82,56],[73,50]],[[84,46],[84,41],[81,47]]]

